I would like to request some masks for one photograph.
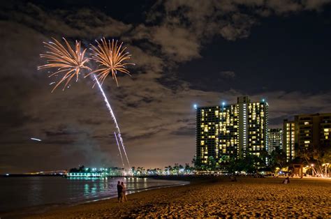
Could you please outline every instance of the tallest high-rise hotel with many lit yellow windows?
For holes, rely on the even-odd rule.
[[[196,158],[207,163],[222,156],[235,159],[260,156],[267,150],[268,104],[251,102],[248,96],[232,105],[196,107]]]

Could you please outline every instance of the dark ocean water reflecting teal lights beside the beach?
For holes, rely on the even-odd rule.
[[[117,181],[126,184],[128,194],[187,184],[184,181],[136,177],[104,179],[75,179],[61,176],[0,177],[0,212],[117,197]]]

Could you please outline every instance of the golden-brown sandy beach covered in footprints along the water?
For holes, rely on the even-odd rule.
[[[27,218],[321,217],[331,216],[329,179],[238,178],[193,180],[190,185],[61,207]]]

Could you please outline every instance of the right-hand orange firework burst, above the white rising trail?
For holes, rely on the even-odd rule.
[[[130,75],[125,66],[134,65],[134,63],[126,63],[124,61],[131,59],[131,54],[125,52],[126,47],[122,48],[123,43],[118,45],[117,40],[115,41],[114,39],[111,42],[110,40],[107,42],[105,38],[102,38],[101,43],[97,40],[96,43],[98,43],[97,47],[91,45],[91,59],[99,63],[100,68],[85,75],[85,77],[96,73],[97,80],[102,84],[108,74],[112,73],[112,78],[115,79],[118,86],[117,71]]]

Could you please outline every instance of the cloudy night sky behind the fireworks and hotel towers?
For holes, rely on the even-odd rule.
[[[265,98],[270,127],[331,112],[329,0],[1,1],[0,173],[120,166],[115,126],[83,79],[51,93],[43,41],[124,41],[132,77],[103,84],[131,166],[191,163],[193,104]],[[42,142],[30,138],[42,139]]]

